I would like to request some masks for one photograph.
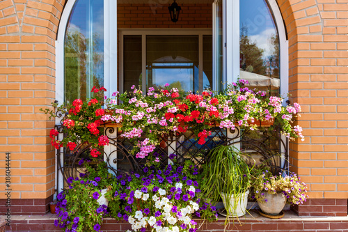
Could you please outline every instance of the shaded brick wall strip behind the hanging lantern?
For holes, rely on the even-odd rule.
[[[171,22],[168,4],[118,4],[118,28],[211,28],[212,4],[180,4],[179,21]]]

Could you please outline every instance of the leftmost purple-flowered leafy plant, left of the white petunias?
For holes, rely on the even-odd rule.
[[[91,165],[89,160],[80,160],[79,164],[84,164],[87,172],[80,173],[80,178],[68,178],[68,190],[57,195],[54,224],[65,231],[100,231],[108,214],[105,201],[100,201],[101,190],[111,185],[111,174],[104,162]]]

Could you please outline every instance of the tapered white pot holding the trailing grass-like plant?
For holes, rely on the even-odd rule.
[[[246,214],[246,205],[248,204],[248,194],[249,190],[244,192],[242,196],[235,198],[234,194],[230,196],[230,199],[226,199],[226,194],[221,193],[223,206],[225,206],[226,211],[230,217],[241,217]],[[238,202],[237,199],[239,200]],[[229,208],[226,206],[226,202],[229,202]]]

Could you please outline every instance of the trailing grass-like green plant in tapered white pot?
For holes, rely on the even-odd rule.
[[[235,146],[216,146],[205,165],[203,193],[213,202],[222,199],[228,217],[245,215],[252,169]]]

